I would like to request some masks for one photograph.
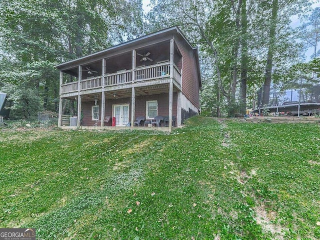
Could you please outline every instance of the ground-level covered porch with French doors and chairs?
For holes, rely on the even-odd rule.
[[[170,92],[171,85],[171,92]],[[139,116],[145,121],[152,121],[155,115],[163,116],[159,130],[170,131],[172,127],[180,126],[179,110],[181,91],[170,80],[166,83],[142,85],[130,88],[111,89],[96,93],[80,94],[62,99],[73,100],[78,109],[70,121],[62,121],[62,128],[85,129],[154,129],[144,122],[139,126],[131,124]],[[171,96],[171,97],[170,97]],[[171,124],[169,114],[171,113]],[[78,118],[80,117],[80,118]],[[74,120],[75,118],[75,120]],[[71,122],[72,121],[72,122]],[[114,121],[114,122],[113,122]],[[114,124],[112,124],[112,122]]]

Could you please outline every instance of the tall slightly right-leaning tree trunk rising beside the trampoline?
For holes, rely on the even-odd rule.
[[[268,43],[268,54],[266,58],[266,67],[265,67],[262,106],[269,104],[277,12],[278,12],[278,0],[272,0],[272,15],[271,15],[271,24],[269,29],[269,43]]]

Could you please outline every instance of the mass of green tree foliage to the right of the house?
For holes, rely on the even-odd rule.
[[[272,81],[287,80],[289,66],[299,61],[302,49],[295,40],[295,31],[289,27],[290,17],[307,10],[309,2],[277,2],[279,10],[272,20],[272,1],[151,0],[148,30],[178,25],[201,51],[201,107],[205,114],[217,105],[229,115],[250,108],[237,103],[245,102],[239,94],[241,73],[246,72],[247,89],[255,92],[260,88],[265,79],[268,48],[273,53]],[[242,8],[243,4],[246,5]],[[275,27],[274,36],[269,35],[271,26]]]

